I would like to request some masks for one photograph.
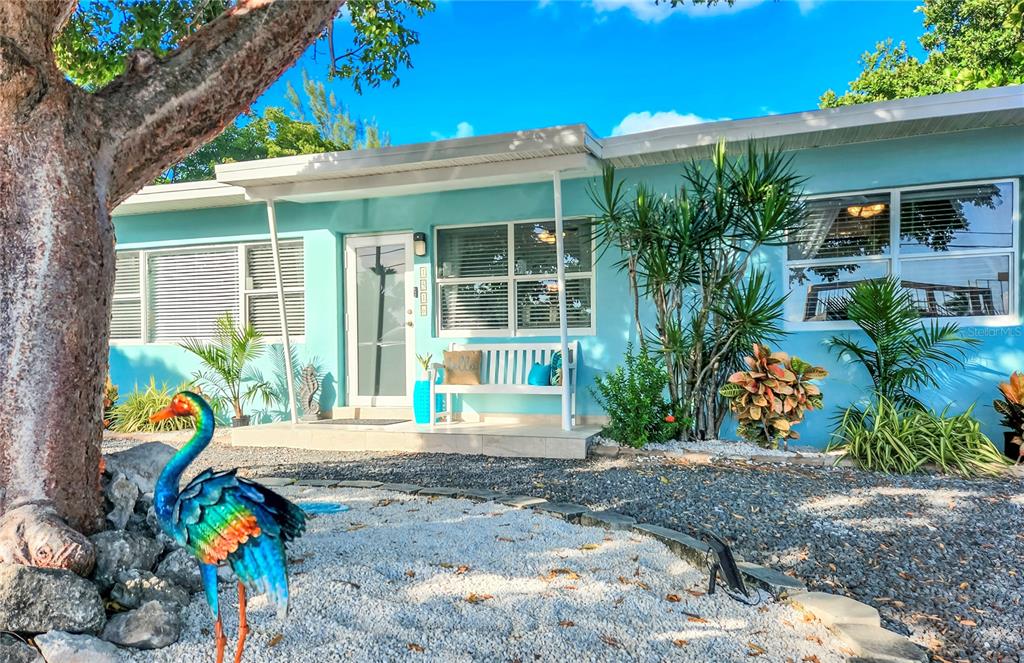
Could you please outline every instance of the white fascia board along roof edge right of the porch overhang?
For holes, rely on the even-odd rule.
[[[858,103],[838,109],[771,115],[749,120],[724,120],[683,127],[669,127],[602,140],[605,159],[616,159],[672,150],[752,138],[775,138],[813,131],[868,127],[913,120],[1024,108],[1024,86],[996,87],[969,92],[934,94],[893,101]]]

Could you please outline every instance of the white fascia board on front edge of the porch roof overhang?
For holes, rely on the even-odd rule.
[[[221,164],[216,167],[217,181],[244,187],[268,185],[285,181],[333,179],[357,176],[359,171],[430,169],[454,159],[480,158],[508,161],[509,156],[588,153],[599,150],[599,142],[586,125],[549,127],[499,133],[469,138],[453,138],[378,150],[353,150],[318,155],[301,155]],[[411,167],[410,167],[411,166]]]

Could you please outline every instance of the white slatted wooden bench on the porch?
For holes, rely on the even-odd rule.
[[[452,343],[450,350],[470,349],[482,353],[480,384],[438,384],[437,371],[442,364],[431,365],[430,423],[437,421],[437,395],[443,393],[447,420],[453,420],[453,393],[508,393],[515,396],[562,396],[562,385],[529,384],[529,369],[534,364],[551,364],[551,357],[562,348],[561,343]],[[562,380],[569,388],[569,415],[575,423],[577,358],[580,342],[569,341],[568,357],[562,358]]]

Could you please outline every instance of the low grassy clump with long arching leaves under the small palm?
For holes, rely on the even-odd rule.
[[[861,467],[909,474],[927,463],[964,476],[990,474],[1009,464],[981,432],[973,407],[949,416],[880,398],[865,409],[849,408],[829,450],[845,452]]]

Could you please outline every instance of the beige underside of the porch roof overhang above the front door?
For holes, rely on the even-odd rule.
[[[601,162],[589,154],[562,155],[379,175],[292,181],[267,187],[247,187],[246,192],[251,201],[284,200],[311,203],[549,181],[556,171],[562,173],[563,179],[593,177],[601,173]]]

